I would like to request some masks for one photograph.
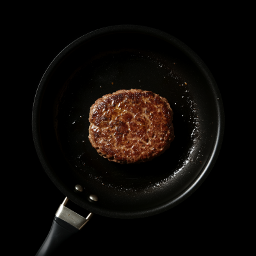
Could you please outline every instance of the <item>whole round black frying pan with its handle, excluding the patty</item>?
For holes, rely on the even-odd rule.
[[[131,88],[168,100],[175,140],[148,163],[109,162],[88,140],[90,106]],[[220,151],[224,113],[216,82],[195,52],[163,31],[122,25],[81,36],[58,54],[38,86],[32,129],[45,172],[69,200],[94,214],[141,218],[171,209],[202,184]],[[61,209],[38,255],[83,227]]]

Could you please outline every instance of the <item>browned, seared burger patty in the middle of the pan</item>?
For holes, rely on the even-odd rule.
[[[174,139],[168,101],[150,91],[119,90],[90,109],[89,140],[100,156],[116,163],[150,161]]]

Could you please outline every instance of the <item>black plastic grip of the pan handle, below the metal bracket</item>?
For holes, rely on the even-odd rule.
[[[36,253],[36,256],[49,256],[63,243],[68,237],[76,234],[79,230],[60,218],[54,218],[51,230],[45,238],[44,243]]]

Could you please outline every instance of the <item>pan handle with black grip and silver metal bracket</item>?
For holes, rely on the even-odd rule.
[[[68,209],[65,205],[68,202],[66,197],[60,205],[52,222],[52,227],[44,243],[36,253],[36,256],[49,256],[63,243],[68,237],[76,234],[92,218],[90,212],[86,218]]]

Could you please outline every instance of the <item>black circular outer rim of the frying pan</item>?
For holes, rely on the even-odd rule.
[[[44,84],[51,76],[52,72],[54,72],[54,68],[60,63],[65,56],[71,51],[73,51],[77,46],[83,44],[88,40],[93,40],[99,36],[109,35],[111,33],[142,33],[144,35],[156,36],[161,40],[165,40],[169,44],[172,44],[174,47],[177,47],[180,51],[184,52],[195,65],[200,69],[202,74],[206,77],[207,81],[209,82],[209,86],[211,86],[212,94],[214,95],[215,106],[216,106],[216,113],[217,113],[217,131],[216,137],[214,139],[214,143],[212,146],[211,154],[209,154],[209,158],[205,163],[204,167],[200,174],[191,182],[191,184],[182,191],[179,195],[175,196],[169,202],[165,202],[164,204],[158,205],[157,207],[149,208],[146,210],[140,211],[113,211],[109,209],[102,209],[95,204],[90,204],[89,202],[84,202],[82,198],[77,196],[74,191],[68,188],[61,180],[55,175],[54,172],[51,170],[51,165],[47,161],[47,157],[45,156],[44,148],[42,147],[42,141],[40,139],[40,126],[39,126],[39,116],[40,116],[40,105],[42,102],[42,98],[44,95]],[[218,100],[217,100],[218,98]],[[223,140],[223,133],[224,133],[224,110],[223,110],[223,103],[221,100],[220,91],[218,90],[218,86],[214,77],[212,76],[210,70],[206,67],[205,63],[200,59],[199,56],[195,52],[193,52],[186,44],[178,40],[172,35],[160,31],[154,28],[148,28],[145,26],[137,26],[137,25],[117,25],[117,26],[109,26],[106,28],[97,29],[92,31],[86,35],[77,38],[74,42],[67,45],[63,51],[61,51],[56,58],[50,63],[47,70],[38,85],[36,90],[35,100],[33,104],[33,112],[32,112],[32,132],[33,132],[33,140],[36,148],[36,153],[38,154],[38,158],[40,159],[40,163],[42,164],[45,172],[47,173],[48,177],[52,180],[55,186],[63,193],[65,196],[70,198],[74,203],[83,207],[88,211],[92,211],[95,214],[100,214],[102,216],[111,217],[111,218],[142,218],[146,216],[152,216],[154,214],[158,214],[160,212],[166,211],[171,209],[177,204],[180,204],[183,200],[188,198],[195,190],[204,182],[205,178],[211,172],[214,163],[218,157],[220,152],[221,143]]]

